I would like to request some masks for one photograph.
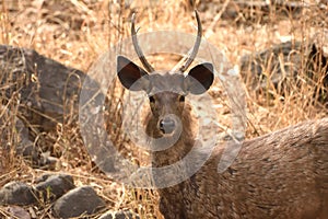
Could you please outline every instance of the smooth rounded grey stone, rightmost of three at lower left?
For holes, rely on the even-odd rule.
[[[91,186],[74,188],[54,204],[54,212],[60,218],[92,215],[105,207],[105,201]]]

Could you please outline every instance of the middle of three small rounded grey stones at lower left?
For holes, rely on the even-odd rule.
[[[74,188],[73,177],[67,174],[43,175],[38,178],[35,189],[38,192],[38,197],[46,200],[55,200]]]

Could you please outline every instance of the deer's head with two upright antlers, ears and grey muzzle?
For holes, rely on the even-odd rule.
[[[121,84],[130,91],[147,92],[150,101],[152,117],[161,136],[172,135],[177,128],[177,119],[184,112],[185,96],[202,94],[212,84],[214,74],[212,64],[197,65],[189,70],[187,76],[184,71],[194,61],[201,42],[201,23],[196,11],[198,23],[198,36],[194,49],[186,62],[175,72],[166,71],[156,73],[148,62],[139,47],[137,32],[134,28],[134,15],[132,16],[131,35],[134,49],[145,70],[133,64],[124,56],[117,57],[117,73]]]

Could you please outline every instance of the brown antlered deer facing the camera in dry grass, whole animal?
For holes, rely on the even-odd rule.
[[[196,44],[176,72],[153,72],[138,45],[134,18],[132,41],[147,70],[122,56],[117,58],[121,84],[149,95],[148,135],[169,140],[179,128],[176,118],[180,119],[177,141],[165,150],[152,152],[154,168],[175,163],[190,151],[195,145],[194,120],[185,97],[188,93],[206,92],[213,82],[213,66],[209,62],[194,67],[186,77],[183,74],[195,59],[201,41],[197,12],[196,18]],[[165,218],[328,218],[328,118],[246,140],[232,165],[218,173],[222,152],[223,148],[216,146],[191,177],[159,188],[160,210]]]

